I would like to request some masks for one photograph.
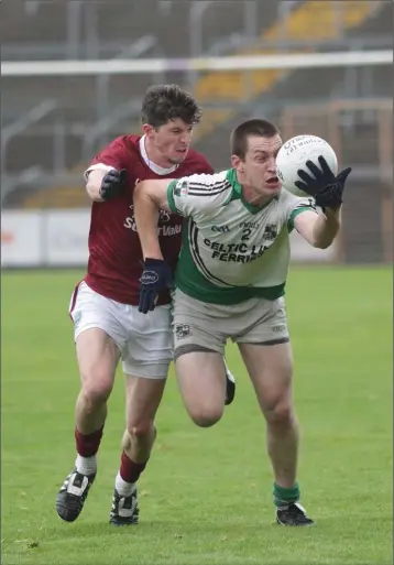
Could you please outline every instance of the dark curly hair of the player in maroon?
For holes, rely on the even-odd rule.
[[[193,96],[178,85],[151,86],[142,101],[142,123],[160,128],[176,118],[190,126],[200,121],[201,110]]]

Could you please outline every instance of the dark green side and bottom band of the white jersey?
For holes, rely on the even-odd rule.
[[[215,286],[198,270],[190,252],[191,232],[197,230],[193,219],[185,220],[182,230],[182,250],[175,273],[176,286],[193,298],[209,304],[239,304],[249,298],[261,297],[274,301],[285,293],[285,282],[277,286]],[[197,238],[194,238],[197,241]],[[198,254],[198,249],[195,250]],[[179,268],[182,265],[182,269]]]

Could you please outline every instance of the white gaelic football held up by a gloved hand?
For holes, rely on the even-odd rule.
[[[306,173],[314,176],[306,166],[306,162],[313,161],[321,169],[318,161],[320,155],[326,159],[328,166],[331,169],[332,173],[337,175],[337,155],[327,141],[316,135],[296,135],[286,141],[276,157],[276,174],[282,186],[297,196],[305,196],[305,193],[299,191],[294,184],[296,181],[300,181],[297,171],[304,169]]]

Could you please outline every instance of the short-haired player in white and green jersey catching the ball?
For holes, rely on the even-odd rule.
[[[311,525],[298,503],[296,480],[298,425],[283,297],[289,232],[295,228],[317,248],[332,243],[350,169],[335,176],[322,157],[321,170],[307,162],[313,175],[299,171],[299,187],[313,197],[302,198],[282,188],[276,176],[282,140],[274,124],[244,122],[233,131],[231,145],[229,171],[145,181],[135,189],[145,259],[140,309],[153,309],[157,291],[172,284],[156,233],[158,209],[167,208],[186,218],[173,295],[175,368],[185,406],[197,425],[220,420],[226,392],[221,355],[231,338],[266,420],[276,521]]]

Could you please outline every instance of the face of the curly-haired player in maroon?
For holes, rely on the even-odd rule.
[[[153,151],[162,162],[166,163],[166,166],[178,165],[186,159],[191,142],[193,126],[185,123],[180,118],[169,120],[156,129],[149,128],[145,133]]]

